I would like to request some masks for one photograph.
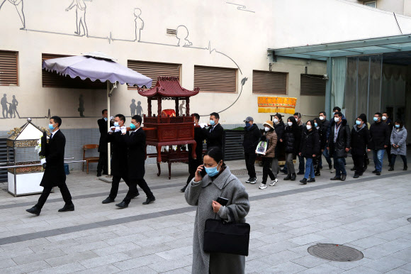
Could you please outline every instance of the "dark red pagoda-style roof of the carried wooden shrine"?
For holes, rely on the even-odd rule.
[[[179,77],[158,77],[157,84],[151,89],[138,89],[138,94],[145,97],[191,97],[197,95],[200,88],[194,90],[181,87]]]

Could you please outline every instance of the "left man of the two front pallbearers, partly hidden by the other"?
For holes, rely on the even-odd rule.
[[[126,185],[130,187],[128,179],[128,165],[127,165],[127,146],[121,141],[118,136],[121,135],[121,130],[125,129],[125,116],[123,114],[117,114],[114,117],[114,126],[110,128],[107,133],[107,141],[111,143],[113,153],[111,157],[111,175],[113,175],[113,181],[111,182],[111,191],[106,199],[103,200],[103,204],[109,204],[114,202],[117,197],[118,185],[121,178],[123,178]],[[139,195],[138,191],[135,197]]]

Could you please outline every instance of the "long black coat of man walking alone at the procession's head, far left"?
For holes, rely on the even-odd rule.
[[[57,187],[66,182],[66,172],[64,172],[64,147],[66,137],[59,129],[50,138],[45,149],[46,168],[43,179],[40,182],[42,187]]]

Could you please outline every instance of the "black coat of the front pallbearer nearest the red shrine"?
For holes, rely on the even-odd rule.
[[[145,175],[145,132],[142,128],[130,134],[120,135],[128,147],[128,177],[142,180]]]

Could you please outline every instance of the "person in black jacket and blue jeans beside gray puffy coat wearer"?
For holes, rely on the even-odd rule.
[[[374,114],[375,123],[370,126],[370,143],[368,143],[368,150],[373,150],[374,165],[376,165],[373,173],[376,175],[381,175],[384,151],[390,146],[391,138],[390,127],[381,121],[381,117],[382,114],[379,112]]]

